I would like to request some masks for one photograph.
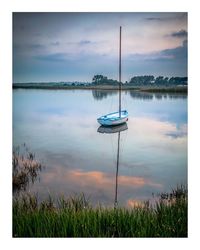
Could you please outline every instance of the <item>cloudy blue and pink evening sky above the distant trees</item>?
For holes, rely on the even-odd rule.
[[[13,13],[13,82],[187,76],[187,13]]]

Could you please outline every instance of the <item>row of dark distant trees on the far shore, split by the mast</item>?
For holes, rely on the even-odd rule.
[[[109,79],[107,76],[95,75],[92,78],[92,84],[98,85],[115,85],[119,83],[117,80]],[[153,75],[133,76],[130,81],[126,81],[126,85],[187,85],[187,77],[164,77]]]

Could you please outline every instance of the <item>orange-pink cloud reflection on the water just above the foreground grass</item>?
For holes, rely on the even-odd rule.
[[[106,173],[98,170],[84,171],[81,169],[68,169],[65,166],[56,165],[50,171],[42,173],[43,187],[56,190],[58,193],[80,193],[80,190],[96,202],[113,203],[115,193],[115,173]],[[133,200],[127,202],[130,194],[143,192],[145,188],[160,190],[163,186],[148,178],[140,176],[119,175],[118,198],[129,207]],[[136,204],[136,202],[135,202]],[[139,204],[139,201],[138,201]]]

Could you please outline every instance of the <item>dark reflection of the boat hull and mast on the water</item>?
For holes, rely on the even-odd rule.
[[[127,130],[128,126],[126,123],[118,125],[118,126],[111,126],[111,127],[105,127],[100,126],[97,130],[97,132],[102,134],[113,134],[118,133],[117,138],[117,166],[116,166],[116,175],[115,175],[115,200],[114,200],[114,208],[118,205],[118,172],[119,172],[119,150],[120,150],[120,133]]]

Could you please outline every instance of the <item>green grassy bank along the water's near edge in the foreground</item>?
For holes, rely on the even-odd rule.
[[[154,206],[132,209],[92,207],[84,195],[13,201],[14,237],[187,237],[187,191],[161,194]]]

